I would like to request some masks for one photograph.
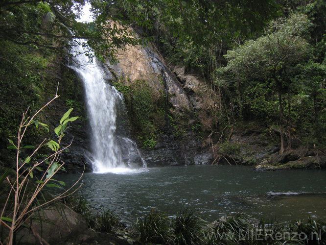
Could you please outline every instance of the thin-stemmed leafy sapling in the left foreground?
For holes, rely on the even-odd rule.
[[[38,128],[39,125],[47,128],[48,126],[45,123],[40,123],[35,121],[35,117],[54,99],[58,98],[56,95],[52,98],[45,106],[43,106],[40,110],[38,110],[32,117],[26,117],[27,111],[23,113],[23,118],[19,126],[18,135],[17,135],[17,143],[15,144],[13,140],[9,140],[11,146],[8,148],[15,149],[16,152],[16,165],[14,168],[15,174],[14,176],[7,175],[6,181],[9,183],[9,191],[6,193],[7,198],[3,204],[1,211],[0,224],[2,228],[7,229],[6,233],[7,237],[4,238],[4,243],[7,245],[12,245],[14,241],[14,234],[21,226],[29,227],[30,222],[29,219],[32,217],[38,216],[38,212],[43,206],[48,205],[49,203],[58,200],[64,196],[69,195],[69,191],[75,185],[73,185],[70,189],[65,191],[59,196],[50,197],[49,199],[44,198],[41,194],[42,190],[47,187],[60,187],[64,183],[61,181],[56,181],[52,177],[58,172],[64,163],[60,163],[59,156],[60,153],[70,147],[70,144],[67,147],[61,147],[61,140],[64,136],[64,132],[67,129],[68,123],[75,121],[78,117],[70,118],[70,109],[68,112],[64,114],[64,116],[60,120],[60,125],[55,128],[55,133],[58,136],[58,141],[49,140],[46,143],[46,139],[38,147],[33,146],[23,146],[23,137],[27,130],[27,128],[35,124]],[[37,151],[42,147],[47,145],[54,151],[50,154],[46,159],[40,162],[31,163],[31,159],[37,153]],[[21,159],[21,151],[22,149],[35,148],[32,153],[27,156],[24,160]],[[47,169],[44,174],[35,181],[35,185],[31,184],[31,179],[34,178],[33,171],[38,169],[39,166],[43,163],[47,163]],[[3,180],[3,179],[2,179]],[[49,181],[52,180],[52,183]],[[78,181],[77,181],[78,182]],[[75,183],[76,184],[76,183]],[[43,200],[39,200],[38,197],[43,196]],[[43,238],[38,235],[40,239],[40,243],[45,242]]]

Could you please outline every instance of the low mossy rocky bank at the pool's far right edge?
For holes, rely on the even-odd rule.
[[[230,140],[216,146],[212,164],[253,166],[258,171],[325,169],[325,150],[293,144],[280,153],[279,135],[271,130],[234,129]]]

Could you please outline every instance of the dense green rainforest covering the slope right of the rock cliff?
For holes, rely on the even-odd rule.
[[[122,0],[107,9],[117,10],[129,22],[145,17],[134,26],[164,58],[209,85],[207,135],[255,122],[279,135],[281,152],[325,147],[325,1]]]

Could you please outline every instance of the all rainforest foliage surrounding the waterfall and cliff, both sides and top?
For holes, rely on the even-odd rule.
[[[97,57],[116,62],[117,49],[145,40],[168,62],[200,74],[216,105],[210,113],[215,120],[206,120],[211,125],[201,129],[204,135],[255,122],[279,134],[281,151],[296,144],[324,147],[324,0],[87,2],[94,18],[90,24],[77,21],[84,0],[0,3],[1,146],[13,135],[21,112],[28,106],[33,112],[46,101],[60,78],[65,84],[76,82],[57,68],[65,66],[67,50],[76,45],[71,40],[81,38],[90,60],[90,48]],[[128,26],[144,39],[135,39]],[[160,114],[160,106],[145,100],[150,115],[144,114],[147,109],[138,110],[137,103],[149,89],[137,91],[130,99],[139,121],[147,122]],[[66,102],[82,106],[73,92],[68,91]],[[152,126],[147,131],[158,133]],[[155,142],[154,136],[143,137]]]

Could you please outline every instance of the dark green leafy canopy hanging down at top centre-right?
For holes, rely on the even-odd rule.
[[[278,9],[274,0],[166,0],[161,18],[175,36],[187,43],[210,47],[240,34],[255,35],[278,16]]]

